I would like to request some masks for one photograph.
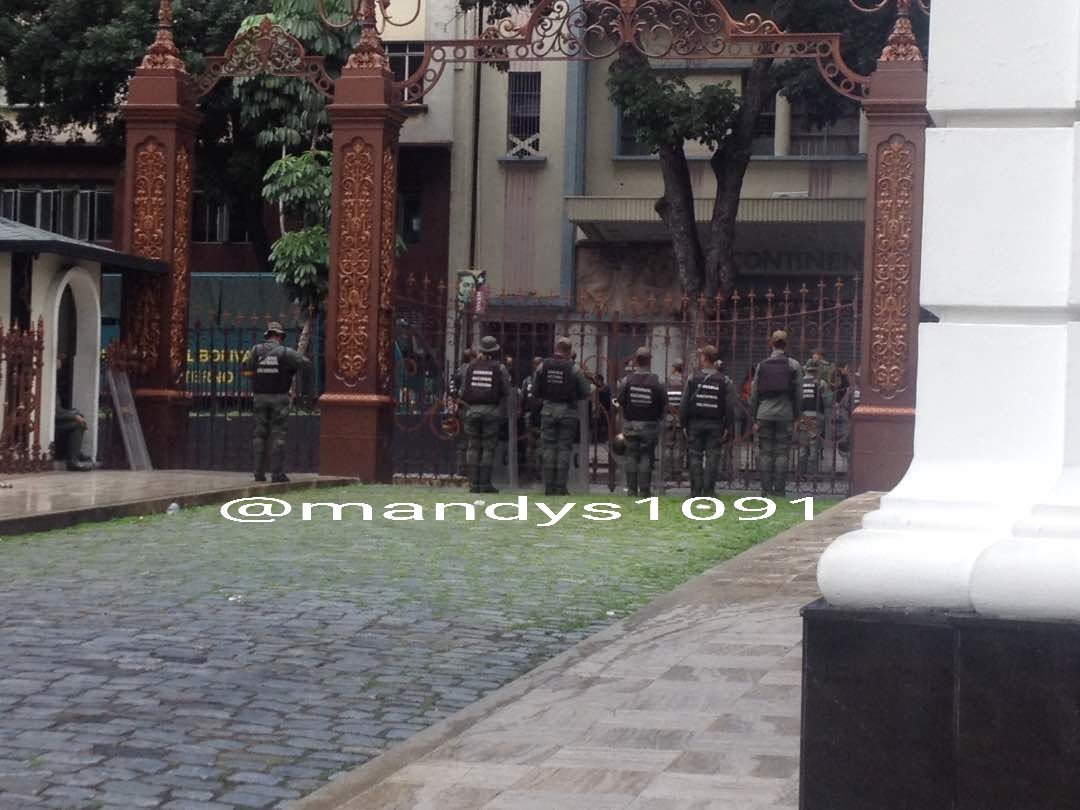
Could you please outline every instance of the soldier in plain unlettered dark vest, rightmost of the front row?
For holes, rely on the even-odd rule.
[[[757,435],[757,464],[761,495],[784,496],[787,486],[792,432],[798,417],[802,366],[788,357],[787,333],[772,333],[772,354],[757,365],[750,394],[750,415]]]

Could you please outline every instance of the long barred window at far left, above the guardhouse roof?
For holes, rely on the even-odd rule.
[[[86,242],[111,242],[112,187],[30,183],[0,187],[0,216]]]

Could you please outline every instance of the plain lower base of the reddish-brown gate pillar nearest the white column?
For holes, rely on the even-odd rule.
[[[915,408],[860,405],[851,430],[851,494],[889,491],[912,464]]]

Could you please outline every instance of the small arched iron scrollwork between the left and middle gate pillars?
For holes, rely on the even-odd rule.
[[[306,79],[323,95],[334,97],[334,80],[322,56],[311,56],[303,43],[269,16],[239,35],[222,56],[206,59],[206,70],[195,78],[195,95],[210,93],[225,77],[291,76]]]

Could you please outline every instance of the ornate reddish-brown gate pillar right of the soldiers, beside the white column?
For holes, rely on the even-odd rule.
[[[853,416],[852,494],[892,489],[912,463],[927,65],[901,17],[863,102],[869,126],[861,403]]]

